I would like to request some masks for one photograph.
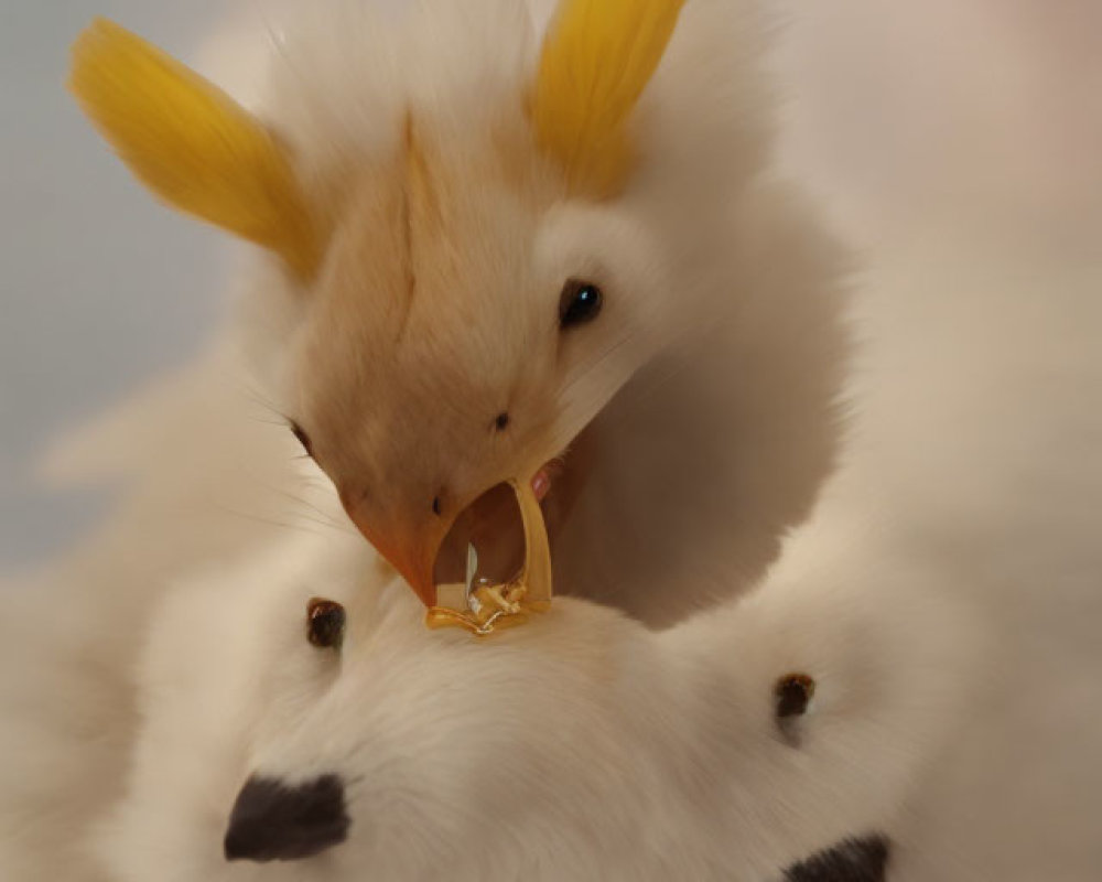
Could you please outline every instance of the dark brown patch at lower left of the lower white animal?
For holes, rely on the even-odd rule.
[[[309,858],[343,842],[348,825],[344,784],[336,775],[295,785],[252,777],[229,816],[226,860]]]

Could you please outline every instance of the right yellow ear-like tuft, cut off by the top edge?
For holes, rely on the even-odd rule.
[[[531,99],[541,147],[574,191],[611,195],[633,163],[627,119],[673,34],[684,0],[563,0]]]

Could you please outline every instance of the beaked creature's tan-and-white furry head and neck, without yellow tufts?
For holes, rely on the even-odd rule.
[[[339,2],[279,31],[257,112],[333,233],[313,283],[258,275],[245,324],[372,541],[423,559],[457,509],[566,451],[547,503],[564,592],[658,625],[760,577],[831,465],[846,348],[844,258],[761,178],[766,25],[685,7],[603,202],[568,198],[532,142],[540,40],[517,3]],[[604,310],[563,333],[571,278]]]

